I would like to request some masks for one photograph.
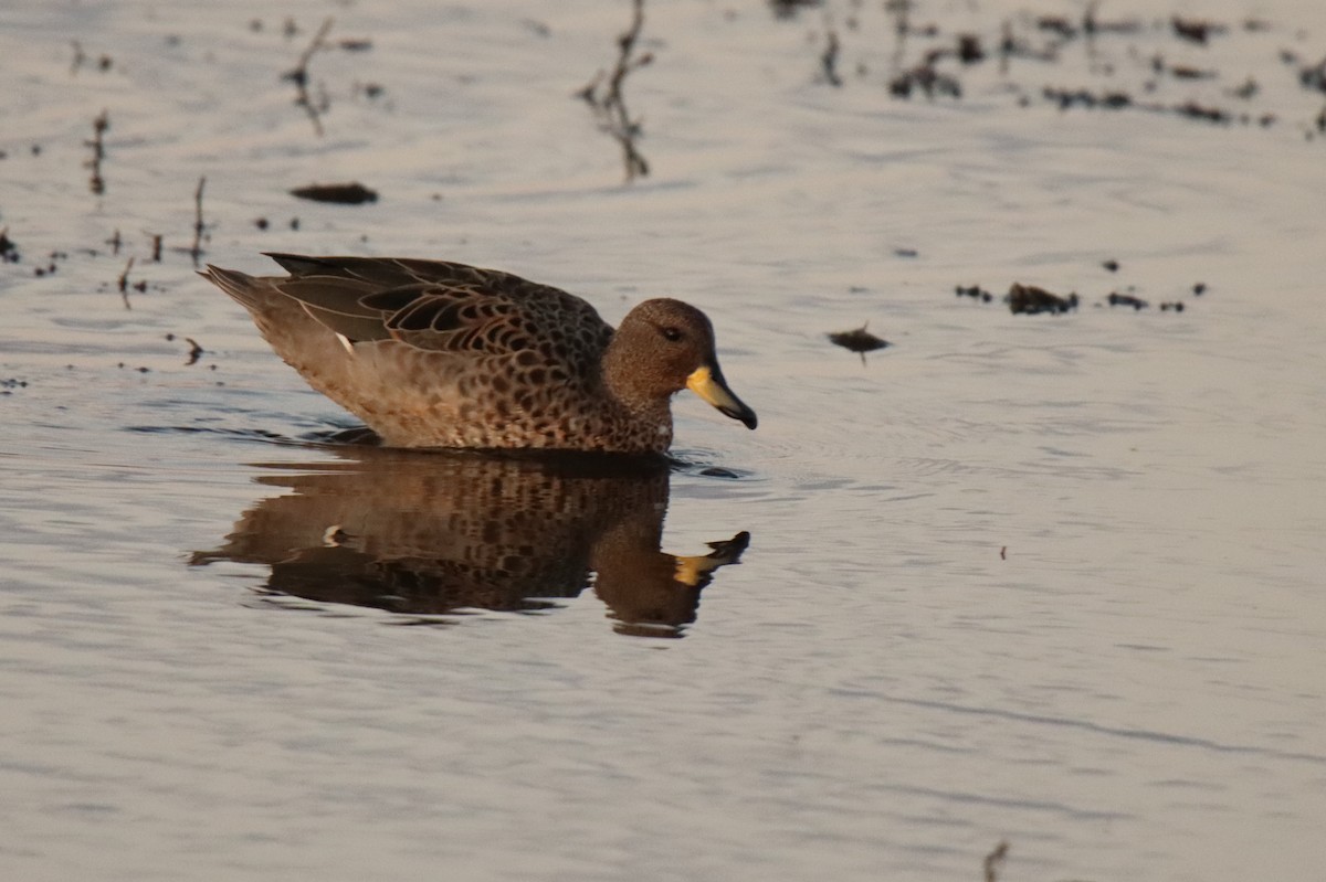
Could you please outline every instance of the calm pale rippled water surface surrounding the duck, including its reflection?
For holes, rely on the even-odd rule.
[[[1319,877],[1326,13],[1175,11],[1227,30],[1102,4],[1140,29],[927,102],[880,4],[650,0],[623,187],[572,95],[625,3],[11,5],[3,875]],[[1042,12],[1081,7],[918,3],[903,66]],[[278,77],[329,15],[371,49],[313,57],[318,138]],[[317,444],[346,417],[191,271],[203,175],[227,266],[691,301],[760,429],[679,397],[646,473]],[[346,180],[381,200],[286,195]]]

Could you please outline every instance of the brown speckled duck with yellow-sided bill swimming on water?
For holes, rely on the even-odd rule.
[[[271,254],[290,274],[208,266],[308,383],[402,448],[658,453],[688,385],[754,428],[709,319],[646,301],[613,328],[585,301],[499,270]]]

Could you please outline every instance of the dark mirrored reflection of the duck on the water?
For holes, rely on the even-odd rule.
[[[293,493],[260,501],[191,563],[264,564],[278,595],[430,617],[556,608],[593,585],[618,632],[676,637],[749,542],[740,532],[707,555],[660,551],[667,464],[338,453],[312,471],[263,466],[280,471],[261,483]]]

